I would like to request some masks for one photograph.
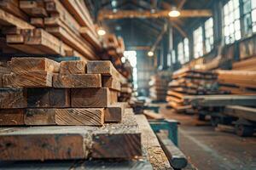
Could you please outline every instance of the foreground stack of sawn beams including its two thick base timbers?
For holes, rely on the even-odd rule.
[[[142,155],[135,116],[117,103],[119,72],[110,61],[26,57],[7,66],[11,72],[0,88],[1,161]]]

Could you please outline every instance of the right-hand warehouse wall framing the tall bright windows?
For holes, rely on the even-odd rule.
[[[248,0],[250,1],[250,0]],[[188,38],[189,38],[189,62],[186,62],[185,64],[194,62],[196,63],[196,60],[198,62],[210,62],[211,59],[216,57],[218,53],[221,53],[222,58],[224,60],[224,67],[229,68],[229,65],[227,65],[226,61],[232,62],[232,60],[238,60],[241,58],[244,58],[244,56],[253,56],[255,53],[255,33],[252,33],[252,31],[247,31],[247,24],[245,24],[245,21],[247,20],[246,15],[245,15],[245,3],[246,1],[239,0],[240,3],[240,26],[241,26],[241,39],[230,43],[226,45],[224,43],[224,32],[223,32],[223,23],[224,23],[224,11],[223,11],[223,6],[225,3],[229,1],[214,1],[212,6],[212,11],[213,11],[213,37],[214,37],[214,46],[212,50],[207,53],[206,52],[206,47],[204,43],[204,54],[198,58],[195,59],[194,57],[194,43],[193,43],[193,31],[199,26],[203,26],[205,21],[207,19],[198,19],[194,20],[189,23],[186,28],[184,28],[184,31],[188,33]],[[203,28],[203,37],[205,41],[205,29]],[[183,37],[178,35],[174,39],[174,50],[176,51],[176,60],[177,59],[177,44],[178,42],[182,41]],[[221,52],[218,52],[218,48],[222,47]],[[242,49],[243,48],[243,49]],[[243,51],[241,51],[243,50]],[[254,51],[254,52],[253,52]],[[176,66],[176,70],[181,67],[179,62],[172,63],[172,65]]]

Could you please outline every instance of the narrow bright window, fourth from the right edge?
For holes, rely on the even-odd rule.
[[[193,32],[193,40],[194,40],[194,57],[195,59],[201,57],[203,55],[203,37],[202,37],[202,27],[198,27]]]

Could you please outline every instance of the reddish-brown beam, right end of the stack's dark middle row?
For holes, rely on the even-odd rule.
[[[113,98],[108,88],[71,89],[72,107],[108,107],[112,103]]]

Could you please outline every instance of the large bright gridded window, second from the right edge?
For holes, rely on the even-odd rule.
[[[230,0],[224,5],[224,39],[233,43],[241,38],[239,0]]]

